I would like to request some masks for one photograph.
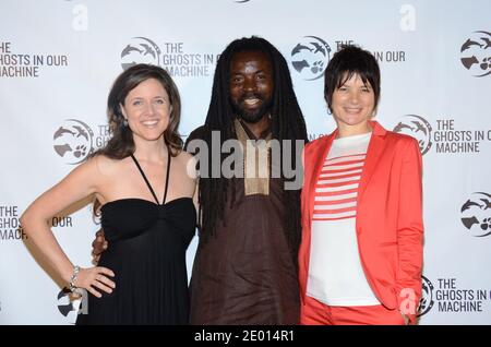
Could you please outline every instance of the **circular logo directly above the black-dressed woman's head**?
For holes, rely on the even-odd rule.
[[[153,40],[133,37],[121,51],[121,67],[127,70],[137,63],[160,65],[160,48]]]

